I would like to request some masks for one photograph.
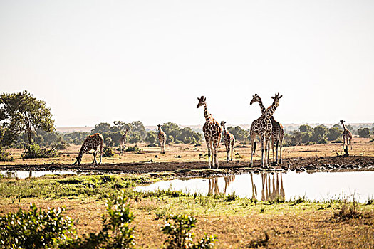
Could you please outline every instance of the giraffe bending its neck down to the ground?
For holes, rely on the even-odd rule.
[[[95,133],[93,135],[89,135],[86,137],[83,141],[82,147],[80,147],[79,154],[77,157],[76,162],[73,165],[76,165],[78,163],[78,166],[80,166],[80,162],[82,161],[82,156],[85,154],[85,152],[90,151],[93,149],[93,162],[92,164],[98,165],[98,161],[96,161],[96,153],[98,152],[98,147],[100,147],[100,162],[103,158],[103,142],[104,138],[101,134]]]

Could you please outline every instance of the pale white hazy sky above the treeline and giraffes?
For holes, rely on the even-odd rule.
[[[3,1],[0,91],[57,127],[374,122],[374,1]]]

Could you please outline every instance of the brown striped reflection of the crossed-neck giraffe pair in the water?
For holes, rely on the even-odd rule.
[[[274,201],[275,199],[284,200],[284,187],[281,173],[264,173],[261,174],[262,190],[261,201]],[[253,189],[253,179],[252,179]]]

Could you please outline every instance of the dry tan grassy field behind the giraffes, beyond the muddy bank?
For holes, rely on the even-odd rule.
[[[349,153],[351,155],[374,156],[374,141],[371,138],[354,138],[353,150]],[[127,144],[134,146],[134,144]],[[194,146],[191,144],[173,144],[166,146],[166,153],[160,154],[160,147],[147,147],[146,144],[138,144],[142,153],[126,152],[124,154],[115,154],[113,158],[103,158],[103,163],[123,163],[123,162],[144,162],[144,161],[207,161],[207,147],[203,143],[202,146]],[[315,144],[302,145],[295,147],[284,147],[283,157],[331,157],[336,156],[336,153],[343,154],[343,144]],[[23,149],[13,149],[12,155],[15,159],[13,162],[0,162],[1,165],[6,164],[73,164],[78,156],[80,146],[71,145],[68,149],[61,151],[61,156],[51,159],[22,159],[21,154]],[[117,148],[116,148],[117,149]],[[261,151],[256,150],[254,159],[261,159]],[[202,156],[200,155],[202,154]],[[251,146],[237,147],[234,151],[234,159],[249,160],[251,159]],[[204,156],[205,155],[205,156]],[[156,157],[157,156],[157,157]],[[180,156],[180,157],[178,157]],[[226,152],[224,145],[219,147],[218,157],[220,160],[226,159]],[[271,154],[272,157],[272,154]],[[88,164],[93,161],[93,155],[85,154],[82,163]]]

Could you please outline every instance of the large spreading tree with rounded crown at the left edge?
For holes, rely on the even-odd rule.
[[[28,143],[33,144],[32,133],[35,129],[45,132],[55,130],[51,109],[46,102],[24,92],[4,93],[0,95],[0,118],[4,127],[15,132],[26,132]]]

